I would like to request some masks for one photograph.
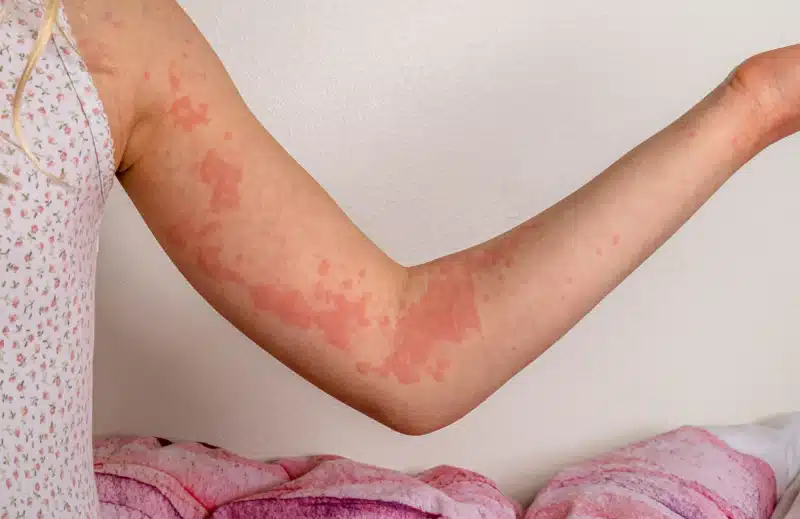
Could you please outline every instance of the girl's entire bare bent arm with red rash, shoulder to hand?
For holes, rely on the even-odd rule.
[[[258,123],[174,0],[66,9],[111,119],[122,185],[189,282],[289,368],[407,434],[489,397],[735,171],[800,128],[800,48],[755,56],[550,209],[405,267]]]

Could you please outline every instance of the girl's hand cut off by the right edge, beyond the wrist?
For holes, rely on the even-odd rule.
[[[800,131],[800,45],[753,56],[727,84],[751,104],[764,146]]]

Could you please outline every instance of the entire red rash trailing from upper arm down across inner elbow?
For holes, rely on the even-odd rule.
[[[161,78],[171,92],[170,124],[191,133],[208,126],[211,118],[209,106],[199,103],[187,88],[197,78],[185,67],[180,59],[173,60]],[[209,222],[241,210],[245,173],[235,155],[235,141],[229,142],[231,133],[226,128],[215,131],[222,137],[216,147],[206,148],[198,155],[199,162],[184,170],[187,178],[202,186],[201,197],[208,197],[204,218]],[[489,292],[494,296],[494,287],[508,283],[500,279],[514,264],[521,234],[511,233],[487,246],[412,269],[414,290],[400,308],[388,308],[380,301],[381,294],[363,288],[364,269],[340,275],[341,265],[320,259],[310,268],[312,279],[299,287],[263,270],[258,277],[248,275],[241,262],[233,260],[242,251],[226,250],[223,237],[216,236],[213,228],[205,234],[202,228],[176,228],[171,236],[177,246],[191,249],[187,257],[202,276],[236,287],[256,312],[348,352],[363,376],[408,385],[446,380],[454,369],[453,350],[482,336],[479,302]],[[486,285],[493,288],[487,290]],[[380,347],[369,340],[380,341]]]

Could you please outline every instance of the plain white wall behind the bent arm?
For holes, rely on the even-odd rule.
[[[264,124],[406,263],[534,215],[749,54],[800,41],[794,0],[183,4]],[[242,337],[118,189],[100,262],[96,430],[259,457],[456,464],[527,501],[564,463],[620,442],[798,408],[799,152],[791,140],[760,156],[550,353],[421,439]]]

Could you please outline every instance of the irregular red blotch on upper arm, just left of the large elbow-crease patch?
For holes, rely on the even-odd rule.
[[[318,284],[315,296],[324,301],[325,307],[315,309],[298,290],[286,286],[265,284],[249,290],[256,309],[269,312],[286,325],[318,330],[328,344],[340,350],[349,349],[353,335],[369,326],[366,316],[369,294],[350,300]]]

